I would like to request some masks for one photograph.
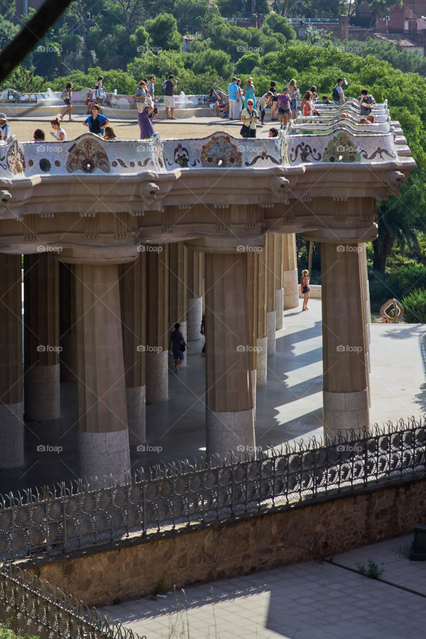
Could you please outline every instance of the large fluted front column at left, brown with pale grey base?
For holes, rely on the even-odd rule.
[[[118,265],[75,265],[78,447],[82,477],[130,469]]]

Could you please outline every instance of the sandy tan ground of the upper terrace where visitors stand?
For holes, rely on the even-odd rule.
[[[72,140],[83,133],[88,132],[88,128],[83,126],[83,121],[87,116],[75,115],[73,121],[63,121],[63,128],[67,132],[68,140]],[[42,118],[10,118],[8,120],[12,135],[16,135],[19,142],[27,142],[33,139],[36,128],[41,128],[46,135],[46,139],[53,139],[49,135],[52,131],[49,117]],[[111,119],[111,126],[119,140],[138,140],[139,127],[137,121]],[[271,125],[272,126],[272,125]],[[205,137],[216,131],[225,131],[235,137],[239,136],[241,123],[223,118],[185,118],[177,120],[155,119],[154,130],[158,131],[163,139]],[[267,127],[258,129],[258,135],[262,132],[262,137],[267,135]]]

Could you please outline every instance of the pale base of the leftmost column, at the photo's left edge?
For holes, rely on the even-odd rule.
[[[0,468],[24,465],[24,403],[0,404]]]

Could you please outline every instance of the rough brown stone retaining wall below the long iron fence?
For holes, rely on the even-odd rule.
[[[426,524],[426,478],[335,493],[233,522],[127,539],[98,550],[19,562],[42,580],[91,606],[150,594],[159,581],[170,590],[330,557],[409,534]]]

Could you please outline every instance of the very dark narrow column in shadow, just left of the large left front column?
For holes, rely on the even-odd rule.
[[[59,262],[59,371],[61,381],[77,380],[75,275],[72,264]]]

